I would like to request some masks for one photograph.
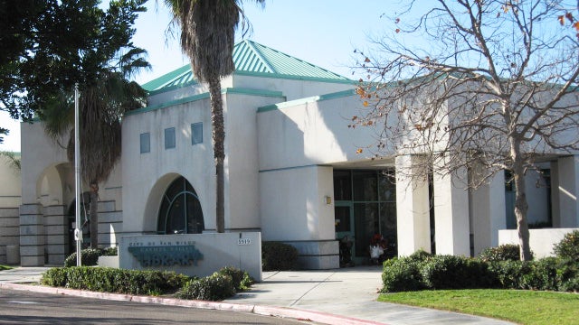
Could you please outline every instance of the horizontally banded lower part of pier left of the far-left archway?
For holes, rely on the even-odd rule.
[[[40,204],[20,206],[20,265],[44,265],[43,207]]]

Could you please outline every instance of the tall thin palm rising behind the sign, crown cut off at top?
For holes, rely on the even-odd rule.
[[[263,4],[265,0],[255,0]],[[223,233],[225,128],[220,81],[233,73],[233,45],[235,29],[245,22],[242,0],[165,0],[174,21],[181,26],[181,49],[191,60],[195,78],[209,85],[213,146],[216,176],[217,232]],[[242,26],[248,26],[242,24]]]

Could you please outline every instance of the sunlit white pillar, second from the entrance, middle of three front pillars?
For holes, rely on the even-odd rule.
[[[436,167],[434,167],[436,168]],[[469,193],[460,188],[464,177],[434,172],[434,241],[438,255],[470,256]]]

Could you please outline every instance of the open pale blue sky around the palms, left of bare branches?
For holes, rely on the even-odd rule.
[[[368,47],[369,34],[383,32],[386,22],[380,16],[392,7],[384,0],[266,0],[261,8],[245,0],[243,9],[253,27],[252,34],[245,38],[357,79],[349,69],[355,63],[353,51]],[[179,31],[177,39],[166,33],[171,15],[163,1],[149,0],[147,9],[138,18],[133,41],[148,51],[153,69],[136,76],[139,83],[188,64],[177,41]],[[19,123],[0,116],[0,125],[10,129],[0,151],[19,152]]]

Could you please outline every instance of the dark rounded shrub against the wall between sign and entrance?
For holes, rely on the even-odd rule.
[[[261,243],[263,271],[295,270],[298,265],[298,249],[280,242]]]

